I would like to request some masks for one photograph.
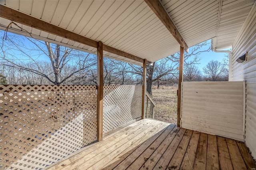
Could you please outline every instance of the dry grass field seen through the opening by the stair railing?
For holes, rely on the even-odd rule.
[[[154,119],[177,124],[177,87],[152,88],[156,102]]]

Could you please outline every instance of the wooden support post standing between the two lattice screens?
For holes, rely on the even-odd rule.
[[[103,136],[103,43],[98,42],[97,48],[98,62],[98,131],[97,139],[102,140]]]

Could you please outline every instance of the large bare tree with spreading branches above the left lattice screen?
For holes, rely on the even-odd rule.
[[[0,59],[6,61],[6,66],[40,75],[54,85],[68,81],[97,63],[96,57],[90,53],[12,33],[1,31],[1,34]],[[50,60],[51,68],[42,67],[41,60]],[[29,67],[28,63],[34,67]]]

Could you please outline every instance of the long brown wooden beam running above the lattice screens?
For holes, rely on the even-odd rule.
[[[76,34],[75,32],[66,30],[64,28],[61,28],[59,26],[53,25],[49,22],[45,22],[42,21],[38,18],[34,18],[30,15],[24,14],[22,12],[19,12],[17,10],[13,10],[11,8],[8,8],[7,6],[1,5],[0,4],[0,17],[2,18],[6,18],[8,20],[12,20],[14,22],[18,22],[20,24],[26,25],[26,26],[30,26],[32,28],[36,28],[38,30],[42,30],[45,32],[48,32],[50,34],[54,34],[56,36],[60,36],[63,38],[67,38],[69,40],[73,40],[75,42],[79,42],[85,45],[89,45],[91,47],[97,48],[98,47],[98,42],[95,40],[92,40],[90,38],[86,38],[80,34]],[[116,54],[116,55],[120,55],[122,57],[126,57],[128,59],[133,59],[135,61],[139,61],[143,63],[143,59],[140,57],[137,57],[135,55],[126,53],[124,51],[121,51],[119,49],[116,49],[114,47],[110,47],[108,45],[104,45],[103,44],[103,50]],[[148,64],[150,64],[150,62],[148,61]]]

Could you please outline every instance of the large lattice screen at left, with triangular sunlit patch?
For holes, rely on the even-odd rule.
[[[0,85],[0,169],[41,169],[96,140],[96,86]]]

